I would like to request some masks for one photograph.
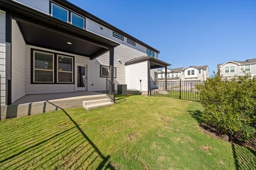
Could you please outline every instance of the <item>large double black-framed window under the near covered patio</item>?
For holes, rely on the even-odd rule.
[[[74,56],[31,49],[31,84],[74,84]]]

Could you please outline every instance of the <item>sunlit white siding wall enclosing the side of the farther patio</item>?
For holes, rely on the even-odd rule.
[[[126,65],[126,84],[127,90],[148,91],[147,61]]]

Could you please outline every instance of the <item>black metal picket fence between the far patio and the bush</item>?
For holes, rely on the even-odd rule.
[[[204,81],[150,81],[150,95],[199,101],[200,93],[196,86],[203,83]]]

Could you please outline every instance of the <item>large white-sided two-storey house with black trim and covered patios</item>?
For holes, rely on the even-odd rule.
[[[148,94],[159,51],[61,0],[0,0],[1,104],[26,95],[106,91],[106,78]]]

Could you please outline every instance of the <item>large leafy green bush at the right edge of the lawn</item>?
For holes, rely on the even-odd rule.
[[[231,80],[219,75],[197,86],[204,107],[202,121],[229,135],[250,140],[256,134],[256,78],[250,74]]]

